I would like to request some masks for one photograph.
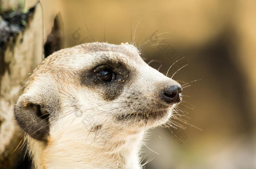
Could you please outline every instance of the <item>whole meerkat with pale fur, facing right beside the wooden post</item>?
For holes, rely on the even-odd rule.
[[[141,169],[146,130],[167,122],[181,91],[134,45],[85,43],[37,66],[14,116],[35,169]]]

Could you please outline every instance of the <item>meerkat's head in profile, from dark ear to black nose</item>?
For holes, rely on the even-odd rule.
[[[65,133],[76,137],[164,124],[180,93],[180,84],[148,66],[133,45],[87,43],[46,58],[14,111],[31,137],[57,140]]]

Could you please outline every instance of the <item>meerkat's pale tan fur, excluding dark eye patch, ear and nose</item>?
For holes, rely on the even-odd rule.
[[[102,55],[130,70],[119,82],[126,86],[113,101],[102,99],[100,87],[79,83],[78,73],[96,66]],[[152,81],[145,83],[145,77]],[[146,129],[164,124],[171,116],[171,106],[159,102],[158,93],[167,84],[179,85],[148,66],[133,45],[90,43],[52,54],[34,70],[17,102],[29,97],[35,104],[52,106],[60,98],[61,106],[52,108],[58,113],[50,114],[47,143],[26,136],[35,168],[140,169]],[[137,117],[140,111],[149,117],[146,122]],[[129,112],[136,116],[133,121],[115,119]],[[89,124],[84,123],[86,117]]]

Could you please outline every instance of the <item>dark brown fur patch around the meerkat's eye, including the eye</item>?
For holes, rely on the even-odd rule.
[[[130,72],[121,62],[104,62],[89,70],[85,68],[80,73],[81,85],[90,88],[104,100],[113,100],[120,96],[130,81]]]

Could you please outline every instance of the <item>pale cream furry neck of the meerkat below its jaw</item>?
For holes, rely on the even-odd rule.
[[[139,151],[144,132],[109,142],[99,140],[49,141],[47,145],[29,138],[29,152],[35,169],[86,168],[86,169],[141,169]],[[81,146],[83,145],[83,146]],[[32,151],[30,151],[32,150]]]

